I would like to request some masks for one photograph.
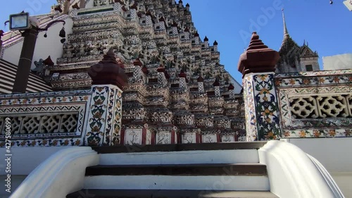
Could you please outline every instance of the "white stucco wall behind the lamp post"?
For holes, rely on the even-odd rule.
[[[67,18],[65,23],[67,39],[67,35],[72,33],[73,20],[71,18]],[[55,25],[49,27],[49,30],[46,32],[48,37],[46,38],[44,38],[45,32],[39,32],[34,49],[32,68],[35,68],[34,61],[39,61],[40,58],[46,59],[48,56],[51,56],[51,60],[56,64],[56,59],[62,57],[63,44],[60,42],[62,38],[58,36],[58,33],[62,27],[63,23],[56,23]],[[17,44],[5,49],[3,59],[18,66],[22,46],[23,42],[18,42]]]

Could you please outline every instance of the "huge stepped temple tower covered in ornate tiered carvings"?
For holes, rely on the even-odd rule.
[[[128,79],[123,144],[245,140],[244,101],[235,92],[240,87],[220,64],[218,42],[210,46],[208,37],[200,38],[189,4],[92,1],[85,8],[70,2],[72,33],[56,65],[46,66],[44,78],[54,90],[89,89],[87,70],[109,51]],[[63,11],[68,3],[60,2]]]

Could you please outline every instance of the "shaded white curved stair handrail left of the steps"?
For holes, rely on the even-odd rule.
[[[87,166],[99,163],[91,147],[70,147],[57,151],[27,176],[11,198],[66,197],[81,190]]]

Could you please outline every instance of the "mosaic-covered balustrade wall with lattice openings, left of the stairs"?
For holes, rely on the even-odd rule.
[[[0,129],[1,119],[11,118],[13,147],[80,146],[89,98],[89,90],[2,94]],[[0,147],[4,139],[1,132]]]

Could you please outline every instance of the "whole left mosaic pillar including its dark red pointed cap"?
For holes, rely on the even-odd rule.
[[[88,74],[93,82],[84,144],[120,144],[122,86],[127,82],[127,75],[116,61],[112,50],[103,56],[102,61],[91,66]]]

